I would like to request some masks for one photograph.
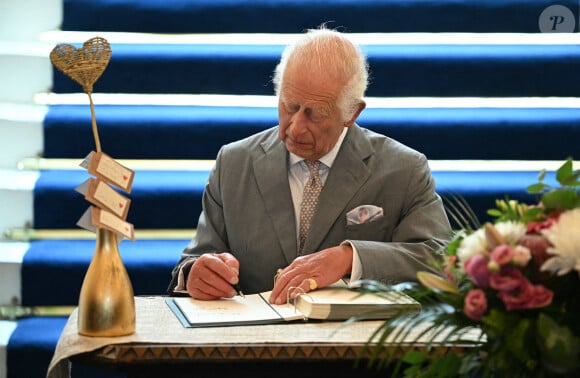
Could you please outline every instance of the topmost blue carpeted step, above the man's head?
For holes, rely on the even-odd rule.
[[[569,14],[578,19],[577,1],[557,3],[566,6]],[[540,15],[550,5],[554,5],[553,0],[65,0],[62,28],[153,33],[299,33],[331,21],[331,26],[356,33],[535,33],[539,31]]]

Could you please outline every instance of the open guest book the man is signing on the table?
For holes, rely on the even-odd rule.
[[[273,305],[270,292],[214,301],[189,297],[168,298],[167,304],[184,327],[273,324],[294,320],[388,319],[401,312],[419,311],[421,305],[408,295],[392,291],[362,294],[345,284],[301,294],[293,303]]]

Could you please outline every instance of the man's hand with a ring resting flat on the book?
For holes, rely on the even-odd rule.
[[[300,256],[276,278],[270,303],[283,304],[300,293],[335,283],[352,270],[352,247],[341,245]],[[314,282],[312,281],[314,280]]]

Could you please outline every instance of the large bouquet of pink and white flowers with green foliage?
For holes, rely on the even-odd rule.
[[[406,287],[423,311],[386,321],[369,345],[389,340],[400,358],[380,358],[375,347],[371,363],[413,377],[580,376],[580,171],[568,159],[559,187],[545,175],[527,189],[537,204],[497,200],[485,225],[464,200],[448,201],[461,227],[442,253],[443,274],[419,272],[420,284]],[[417,334],[419,324],[428,326]],[[405,351],[410,335],[426,348]],[[432,353],[441,343],[463,347]]]

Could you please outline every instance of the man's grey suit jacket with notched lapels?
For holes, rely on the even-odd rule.
[[[278,268],[297,257],[294,207],[288,184],[288,152],[278,128],[224,146],[203,195],[197,233],[173,270],[207,252],[230,252],[240,262],[245,293],[270,290]],[[434,252],[450,227],[424,155],[383,135],[353,125],[320,194],[304,254],[349,240],[364,279],[415,281],[431,270]],[[384,216],[347,225],[361,205]]]

